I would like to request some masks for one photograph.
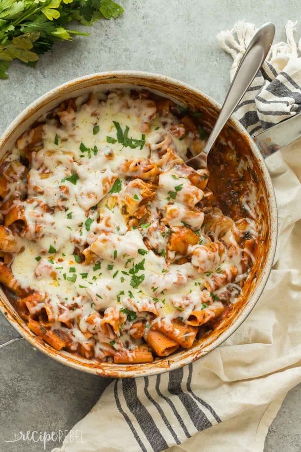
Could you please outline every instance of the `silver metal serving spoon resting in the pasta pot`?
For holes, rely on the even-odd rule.
[[[187,162],[194,169],[207,166],[207,156],[219,136],[222,128],[240,102],[250,84],[255,79],[265,60],[275,36],[275,25],[271,22],[264,24],[254,35],[248,45],[244,56],[237,68],[232,83],[230,84],[226,99],[222,105],[219,117],[215,123],[207,143],[200,154],[192,157]]]

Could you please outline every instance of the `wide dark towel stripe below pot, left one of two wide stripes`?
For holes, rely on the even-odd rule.
[[[122,391],[128,409],[136,417],[137,422],[147,437],[152,449],[154,451],[163,451],[164,449],[167,449],[168,444],[156,426],[149,411],[138,399],[135,378],[123,379]]]

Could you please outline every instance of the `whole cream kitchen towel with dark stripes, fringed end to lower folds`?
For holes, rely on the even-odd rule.
[[[254,133],[301,109],[301,59],[288,22],[287,43],[268,61],[237,108]],[[255,32],[244,22],[222,32],[234,75]],[[278,257],[260,302],[243,325],[207,356],[151,377],[114,380],[53,452],[262,452],[268,426],[301,382],[301,161],[299,145],[268,158],[278,204]],[[291,159],[291,160],[290,160]],[[298,178],[299,175],[299,178]],[[81,431],[80,441],[74,441]]]

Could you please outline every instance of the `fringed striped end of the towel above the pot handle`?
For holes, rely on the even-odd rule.
[[[250,135],[261,132],[301,111],[301,39],[294,39],[297,22],[286,24],[287,42],[273,44],[261,71],[235,109],[235,116]],[[232,80],[240,60],[256,32],[254,24],[237,22],[217,36],[233,58]]]

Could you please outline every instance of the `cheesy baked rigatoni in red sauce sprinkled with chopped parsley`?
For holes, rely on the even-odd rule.
[[[231,153],[212,153],[212,175],[184,163],[205,145],[201,123],[146,90],[112,90],[63,102],[17,140],[0,166],[0,283],[39,340],[149,363],[235,303],[260,238],[256,197]]]

